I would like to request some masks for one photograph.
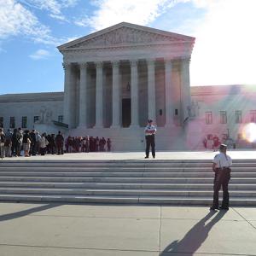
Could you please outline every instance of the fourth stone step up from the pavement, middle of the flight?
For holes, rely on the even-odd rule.
[[[213,177],[0,177],[0,182],[213,183]],[[253,183],[255,177],[232,177],[230,183]]]

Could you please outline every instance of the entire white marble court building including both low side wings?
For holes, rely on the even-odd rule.
[[[109,137],[114,151],[143,150],[153,119],[157,150],[202,149],[215,135],[252,147],[246,137],[256,129],[255,84],[190,87],[194,43],[122,22],[63,44],[64,91],[0,95],[0,127]]]

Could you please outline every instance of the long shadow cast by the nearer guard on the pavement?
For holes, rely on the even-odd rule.
[[[201,244],[206,241],[209,231],[214,224],[224,217],[225,211],[219,211],[207,224],[207,220],[216,212],[209,212],[207,216],[202,218],[180,241],[172,241],[161,253],[160,256],[170,256],[173,253],[186,253],[186,256],[193,255]],[[175,254],[176,255],[176,254]]]

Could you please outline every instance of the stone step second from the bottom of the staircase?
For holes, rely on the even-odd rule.
[[[147,196],[212,196],[212,190],[188,189],[35,189],[35,188],[0,188],[0,194],[36,194],[36,195],[147,195]],[[219,195],[222,195],[220,191]],[[230,198],[256,197],[255,190],[230,189]]]

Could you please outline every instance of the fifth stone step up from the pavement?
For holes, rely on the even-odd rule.
[[[213,177],[213,172],[0,172],[1,177]],[[256,177],[256,172],[232,172],[233,177]]]

